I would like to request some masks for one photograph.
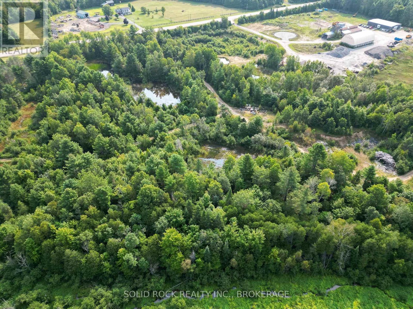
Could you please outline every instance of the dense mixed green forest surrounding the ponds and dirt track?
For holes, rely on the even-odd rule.
[[[411,188],[374,166],[353,173],[357,159],[342,150],[314,143],[304,154],[289,140],[305,139],[309,127],[366,127],[407,171],[412,89],[332,75],[320,62],[282,64],[282,48],[229,26],[224,18],[81,33],[71,44],[74,36],[48,42],[48,56],[0,63],[1,135],[21,106],[36,105],[32,138],[11,136],[2,151],[14,159],[0,166],[0,299],[69,308],[49,288],[93,282],[80,308],[121,308],[125,287],[230,288],[270,274],[413,283]],[[262,54],[259,65],[273,74],[254,79],[254,63],[225,66],[223,53]],[[90,60],[114,74],[90,70]],[[276,122],[218,108],[204,80],[232,105],[273,110]],[[134,97],[131,82],[165,83],[181,102]],[[246,154],[218,169],[198,158],[205,143]]]

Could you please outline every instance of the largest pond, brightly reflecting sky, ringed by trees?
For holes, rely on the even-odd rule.
[[[140,84],[132,85],[133,96],[138,96],[143,93],[147,98],[150,98],[156,105],[165,104],[166,106],[175,106],[180,103],[179,95],[173,93],[165,84],[148,84],[142,87]]]

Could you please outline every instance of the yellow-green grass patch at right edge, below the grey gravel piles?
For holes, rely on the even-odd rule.
[[[388,64],[379,74],[374,75],[374,80],[413,84],[413,47],[401,47],[393,58],[394,61],[391,64]]]

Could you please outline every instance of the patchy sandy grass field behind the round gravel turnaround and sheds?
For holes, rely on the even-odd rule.
[[[297,37],[290,39],[290,41],[302,41],[315,40],[321,37],[321,34],[328,31],[328,27],[334,21],[344,21],[352,25],[358,25],[366,23],[367,20],[367,17],[360,15],[352,17],[352,14],[324,11],[320,14],[313,12],[281,16],[276,19],[261,21],[260,23],[251,23],[247,27],[271,36],[277,30],[287,30],[297,34]]]

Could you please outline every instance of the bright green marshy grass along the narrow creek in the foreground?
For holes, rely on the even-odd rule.
[[[342,285],[326,295],[326,290],[334,285]],[[164,290],[173,286],[173,283],[165,285]],[[233,287],[235,289],[233,289]],[[83,297],[88,296],[91,286],[58,285],[50,283],[38,283],[33,290],[47,291],[51,300],[56,297],[64,297],[71,305],[80,306]],[[127,287],[118,286],[119,290],[128,290]],[[190,290],[182,287],[183,290]],[[412,287],[392,287],[383,292],[378,288],[352,286],[348,279],[338,276],[309,276],[297,274],[296,276],[278,275],[263,280],[246,280],[231,283],[226,288],[217,286],[202,286],[199,290],[212,292],[214,290],[227,291],[216,298],[205,297],[202,300],[186,299],[185,308],[199,309],[251,309],[251,308],[301,308],[301,309],[407,309],[412,301]],[[289,298],[282,297],[240,297],[243,291],[282,291]],[[307,295],[303,295],[308,293]],[[280,293],[281,295],[281,293]],[[17,296],[17,295],[16,295]],[[154,305],[153,297],[132,298],[123,302],[121,308],[142,307]],[[155,307],[166,306],[169,308],[171,300],[165,300]]]

